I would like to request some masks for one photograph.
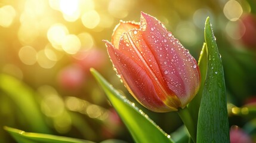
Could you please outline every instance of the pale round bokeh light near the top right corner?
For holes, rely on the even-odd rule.
[[[225,4],[223,13],[230,21],[236,21],[242,15],[243,9],[238,1],[230,0]]]

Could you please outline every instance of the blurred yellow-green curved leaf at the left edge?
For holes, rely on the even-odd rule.
[[[39,105],[36,103],[35,92],[29,86],[13,76],[0,74],[0,90],[14,101],[30,129],[36,132],[50,133]]]

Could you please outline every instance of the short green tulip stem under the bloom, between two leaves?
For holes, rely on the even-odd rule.
[[[192,116],[189,113],[187,107],[178,110],[178,115],[180,116],[181,120],[183,121],[184,125],[186,126],[187,130],[189,131],[190,137],[192,138],[193,142],[196,142],[196,127],[195,123],[193,122]]]

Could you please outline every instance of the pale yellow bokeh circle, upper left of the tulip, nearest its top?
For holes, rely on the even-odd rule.
[[[94,29],[100,23],[100,15],[97,11],[87,11],[81,17],[82,23],[89,29]]]

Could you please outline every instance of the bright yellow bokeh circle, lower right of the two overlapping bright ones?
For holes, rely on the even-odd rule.
[[[61,46],[68,54],[76,54],[81,48],[81,42],[76,35],[67,35],[64,37]]]

